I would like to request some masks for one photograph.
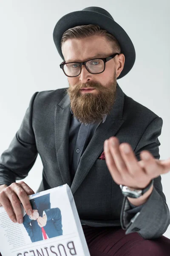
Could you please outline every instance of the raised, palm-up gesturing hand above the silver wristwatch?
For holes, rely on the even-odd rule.
[[[144,189],[153,178],[170,172],[170,158],[158,160],[149,151],[143,150],[140,153],[142,160],[138,161],[130,144],[119,144],[116,137],[105,140],[104,152],[111,176],[119,185]]]

